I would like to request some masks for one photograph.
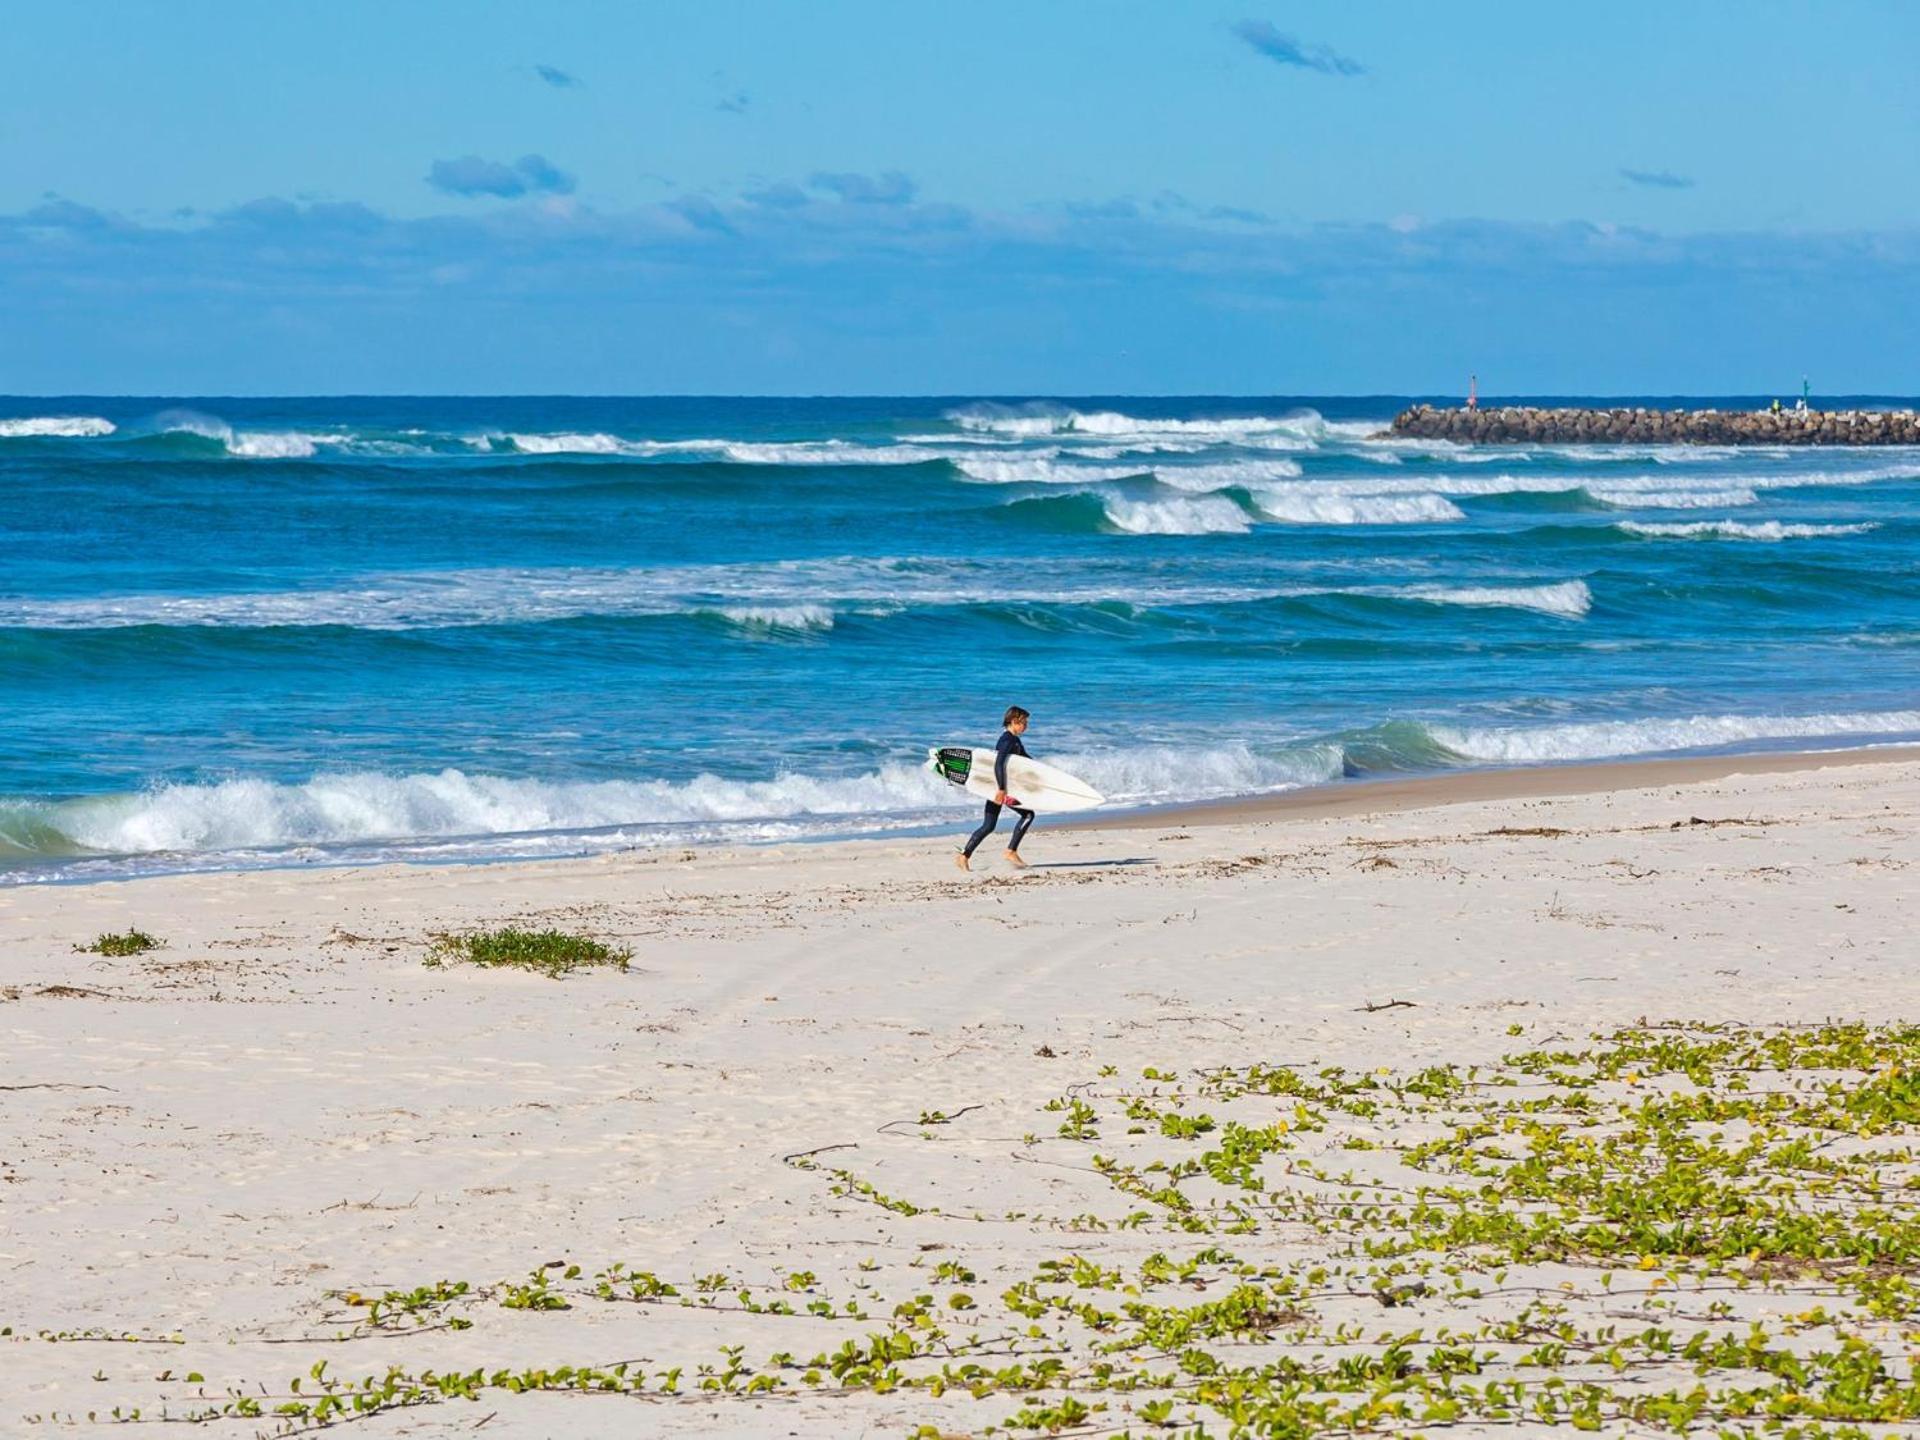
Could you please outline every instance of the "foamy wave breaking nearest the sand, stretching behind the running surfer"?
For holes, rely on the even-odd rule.
[[[1156,804],[1319,785],[1352,774],[1551,764],[1763,741],[1895,739],[1920,710],[1695,714],[1551,726],[1394,720],[1273,743],[1140,745],[1050,755],[1114,801]],[[286,858],[488,858],[874,833],[950,822],[973,799],[920,764],[737,780],[530,780],[463,770],[334,772],[156,785],[67,801],[0,799],[0,856],[173,856],[159,868]],[[215,860],[217,856],[217,860]],[[48,872],[25,872],[48,874]],[[58,874],[58,872],[54,872]],[[104,874],[96,870],[94,874]]]

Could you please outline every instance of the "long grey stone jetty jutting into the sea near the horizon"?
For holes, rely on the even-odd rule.
[[[1542,445],[1920,445],[1914,411],[1655,411],[1415,405],[1392,434],[1461,444]]]

